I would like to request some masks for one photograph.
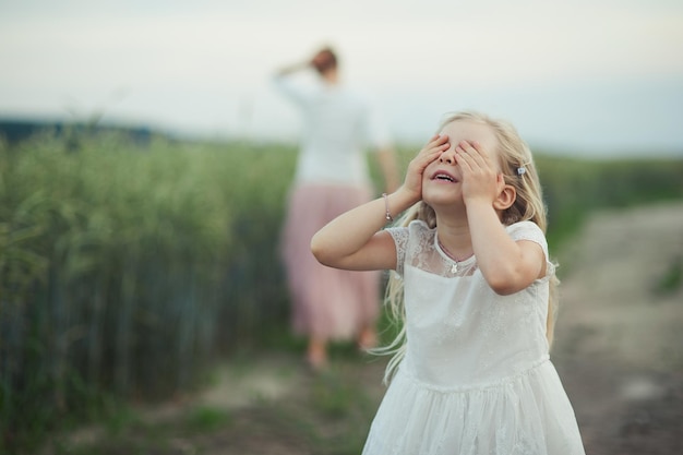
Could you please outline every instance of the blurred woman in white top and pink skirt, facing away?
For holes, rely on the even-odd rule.
[[[302,77],[307,72],[315,74],[313,81]],[[368,149],[379,160],[386,191],[398,187],[398,175],[386,125],[367,96],[342,84],[337,55],[331,48],[283,68],[275,85],[303,119],[283,255],[293,331],[308,336],[307,360],[320,369],[327,362],[331,340],[356,338],[361,348],[375,346],[380,275],[321,265],[311,253],[311,237],[339,214],[373,197]]]

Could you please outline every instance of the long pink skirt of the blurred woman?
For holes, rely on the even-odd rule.
[[[380,311],[380,272],[324,266],[315,260],[310,247],[320,228],[371,197],[368,188],[324,184],[293,188],[283,231],[283,256],[296,333],[342,340],[375,323]]]

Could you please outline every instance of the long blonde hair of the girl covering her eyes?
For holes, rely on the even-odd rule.
[[[502,221],[510,226],[514,223],[529,220],[538,225],[543,232],[547,229],[547,211],[543,203],[542,189],[539,182],[534,157],[528,145],[522,140],[517,130],[508,122],[492,119],[477,112],[457,112],[448,116],[439,131],[454,121],[468,121],[482,123],[491,128],[498,139],[498,156],[506,184],[515,188],[515,202],[502,213]],[[410,207],[396,221],[397,226],[408,226],[410,221],[419,219],[430,228],[436,227],[436,215],[432,207],[423,201]],[[553,273],[550,277],[550,298],[548,302],[548,321],[546,336],[549,345],[552,345],[554,324],[556,319],[556,287],[559,280]],[[399,325],[400,332],[388,346],[375,349],[376,354],[394,354],[390,361],[385,381],[388,381],[405,354],[405,309],[403,302],[403,279],[396,274],[391,274],[386,287],[385,302],[390,309],[390,316]]]

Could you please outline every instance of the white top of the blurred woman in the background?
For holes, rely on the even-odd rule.
[[[293,76],[276,76],[275,85],[303,116],[296,183],[369,185],[367,147],[390,145],[384,121],[369,97]]]

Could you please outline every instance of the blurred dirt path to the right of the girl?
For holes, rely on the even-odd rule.
[[[563,262],[553,361],[587,453],[683,453],[683,204],[597,214]]]

